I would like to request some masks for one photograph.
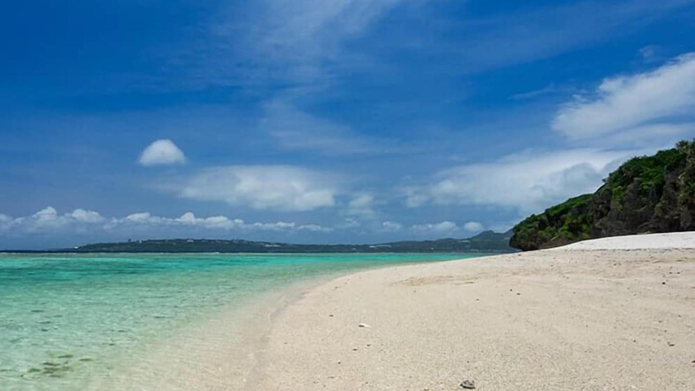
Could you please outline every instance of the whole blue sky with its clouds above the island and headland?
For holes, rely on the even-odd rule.
[[[695,136],[695,1],[24,1],[0,248],[468,237]]]

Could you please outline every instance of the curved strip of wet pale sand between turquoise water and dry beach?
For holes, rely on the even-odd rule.
[[[357,272],[384,267],[393,265],[361,267]],[[142,346],[142,357],[121,362],[108,376],[93,378],[85,389],[249,389],[249,384],[262,377],[259,368],[263,367],[266,337],[277,315],[316,287],[355,272],[333,271],[295,280],[250,296],[241,304],[224,305],[194,324],[179,328],[176,334]]]

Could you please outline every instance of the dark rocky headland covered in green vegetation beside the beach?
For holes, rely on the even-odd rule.
[[[537,250],[574,241],[695,230],[695,140],[635,157],[595,193],[534,214],[513,229],[510,246]]]

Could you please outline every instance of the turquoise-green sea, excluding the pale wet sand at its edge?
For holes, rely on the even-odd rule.
[[[0,255],[0,390],[83,390],[167,335],[294,282],[481,254]]]

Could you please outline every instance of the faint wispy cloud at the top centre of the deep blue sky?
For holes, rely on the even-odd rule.
[[[174,50],[174,67],[199,86],[325,86],[370,63],[345,50],[380,17],[408,0],[259,0],[231,3],[201,29],[190,48]]]

